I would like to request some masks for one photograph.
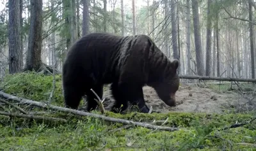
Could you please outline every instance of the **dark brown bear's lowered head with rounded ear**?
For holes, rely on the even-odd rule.
[[[179,67],[179,61],[173,60],[170,64],[171,67],[167,73],[164,73],[164,78],[160,83],[155,85],[157,95],[168,106],[176,106],[175,93],[179,90],[180,79],[177,74],[177,68]]]

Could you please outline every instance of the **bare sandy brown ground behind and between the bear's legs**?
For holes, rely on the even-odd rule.
[[[156,91],[149,87],[143,87],[144,98],[147,106],[153,107],[158,113],[189,112],[189,113],[224,113],[227,111],[251,111],[256,109],[256,101],[248,103],[243,96],[232,91],[216,91],[198,86],[180,86],[176,93],[177,106],[170,107],[159,99]],[[108,90],[104,91],[104,106],[107,110],[113,105],[113,98]]]

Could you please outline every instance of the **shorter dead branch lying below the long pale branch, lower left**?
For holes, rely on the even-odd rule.
[[[67,120],[63,118],[52,118],[47,116],[33,116],[33,115],[19,115],[17,113],[8,113],[3,111],[0,111],[0,115],[13,116],[13,117],[19,117],[19,118],[32,118],[32,119],[38,119],[38,120],[50,120],[50,121],[57,121],[57,122],[67,122]]]

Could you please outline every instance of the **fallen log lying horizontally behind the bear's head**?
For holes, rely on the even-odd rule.
[[[179,75],[179,77],[180,77],[180,79],[239,81],[239,82],[256,83],[256,79],[243,79],[243,78],[232,78],[232,77],[209,77],[209,76],[189,76],[189,75]]]

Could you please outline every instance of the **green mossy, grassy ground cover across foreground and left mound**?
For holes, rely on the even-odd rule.
[[[56,79],[52,104],[63,106],[61,76]],[[52,77],[35,73],[15,74],[5,77],[0,87],[5,93],[47,101],[52,90]],[[8,109],[6,107],[6,111]],[[122,123],[59,112],[47,116],[65,118],[68,122],[0,116],[0,150],[256,150],[253,147],[256,144],[256,122],[221,130],[236,122],[248,122],[255,113],[106,113],[106,116],[148,123],[168,118],[164,125],[180,128],[180,131],[173,132],[125,127]]]

